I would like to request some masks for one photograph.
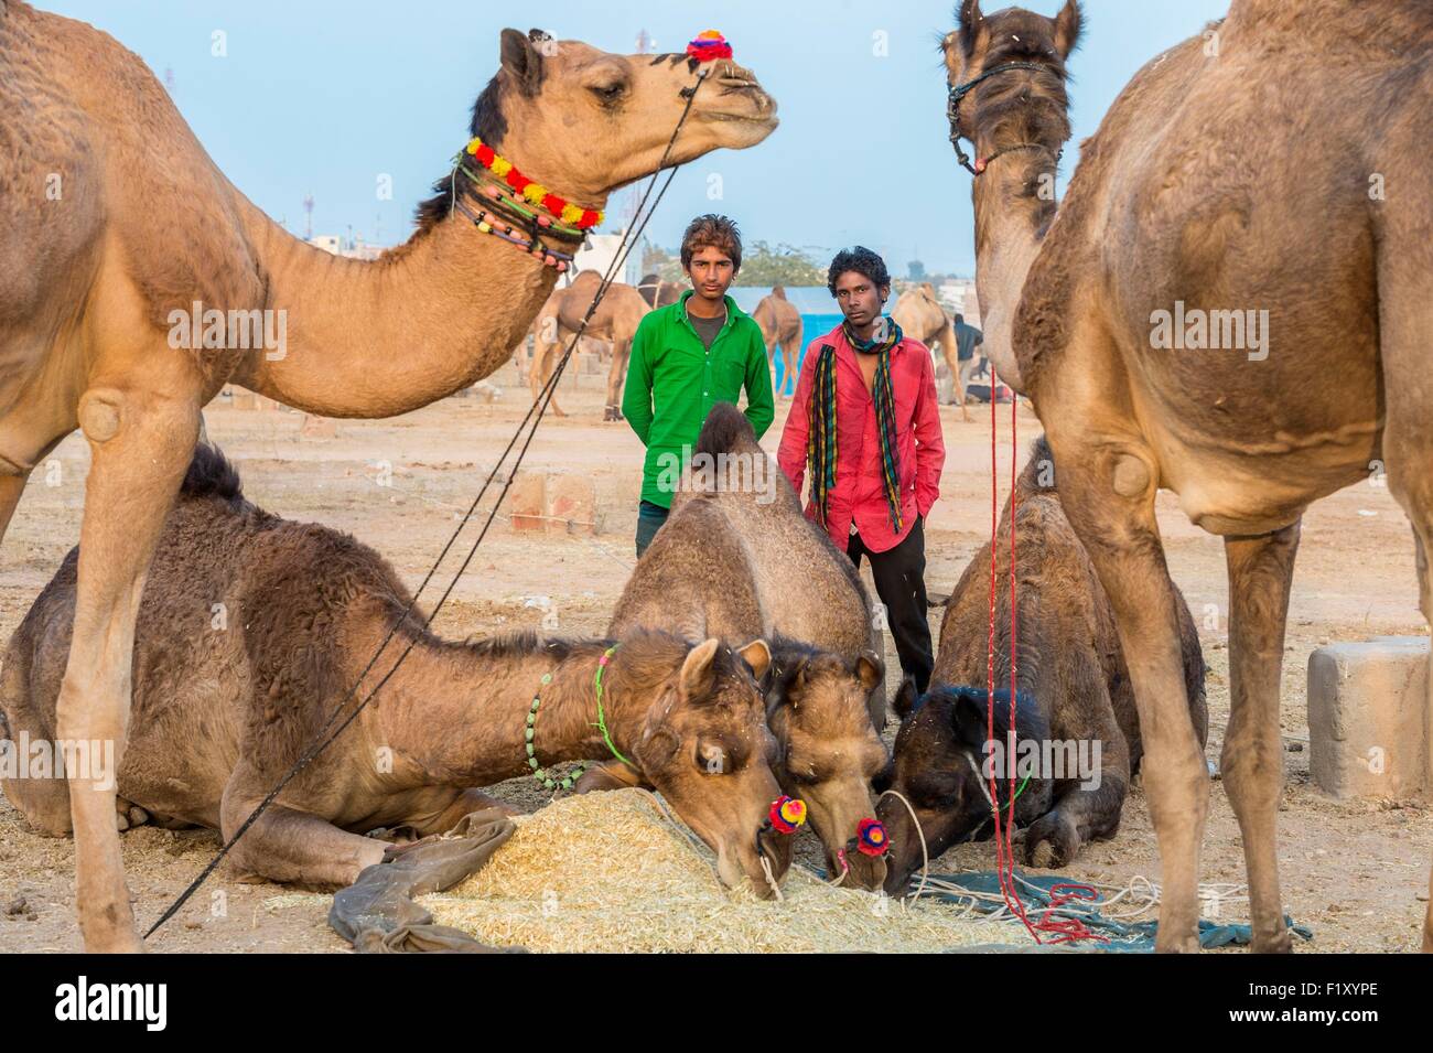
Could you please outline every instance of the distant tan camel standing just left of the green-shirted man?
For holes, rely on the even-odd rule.
[[[598,295],[602,285],[602,275],[596,271],[583,271],[572,279],[572,285],[565,289],[553,289],[543,304],[542,311],[533,321],[533,362],[527,374],[533,398],[542,391],[552,371],[557,367],[557,358],[566,347],[572,334],[582,325],[592,298]],[[592,319],[583,331],[583,338],[605,341],[612,348],[612,361],[608,368],[608,404],[602,410],[602,420],[622,420],[622,383],[626,378],[626,364],[632,357],[632,338],[642,317],[649,311],[646,299],[638,289],[622,282],[612,282],[602,295],[602,302],[592,312]],[[557,393],[553,391],[550,400],[552,411],[557,417],[566,417],[557,405]]]

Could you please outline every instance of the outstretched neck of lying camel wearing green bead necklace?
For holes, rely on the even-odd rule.
[[[540,695],[533,749],[546,768],[612,756],[598,726],[600,640],[550,640],[532,648],[484,649],[456,643],[414,648],[384,695],[383,729],[394,775],[406,782],[481,787],[527,775],[526,728]],[[602,712],[612,744],[633,755],[645,719],[629,689],[620,648],[602,678]],[[550,681],[543,683],[543,676]],[[400,768],[400,765],[406,765]]]

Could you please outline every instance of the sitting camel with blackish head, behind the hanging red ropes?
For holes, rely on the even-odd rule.
[[[1015,821],[1025,830],[1025,860],[1032,867],[1063,867],[1082,844],[1113,837],[1139,771],[1142,745],[1129,669],[1115,632],[1115,613],[1085,546],[1070,529],[1055,486],[1045,438],[1015,484],[1016,579],[1020,582],[1016,636],[1015,758],[995,764],[1002,812],[1009,808],[1007,778],[1032,775],[1019,788]],[[1009,732],[1010,688],[1010,501],[996,533],[996,669],[993,708],[997,744]],[[1184,695],[1202,745],[1208,729],[1204,699],[1204,652],[1184,596],[1175,590]],[[966,566],[946,603],[930,691],[916,698],[901,685],[894,709],[901,718],[891,768],[880,785],[903,794],[881,799],[880,819],[890,834],[891,862],[886,891],[898,894],[921,864],[920,838],[936,858],[977,831],[992,832],[990,791],[984,774],[990,617],[990,543]],[[1098,744],[1098,746],[1095,745]],[[1050,766],[1030,771],[1026,756],[1039,751]],[[1096,752],[1098,749],[1098,752]],[[1013,762],[1013,764],[1012,764]],[[1033,766],[1033,765],[1032,765]],[[1055,771],[1060,768],[1060,771]]]

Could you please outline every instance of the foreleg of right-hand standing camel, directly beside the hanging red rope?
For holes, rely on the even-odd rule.
[[[1050,401],[1070,391],[1052,378]],[[1072,400],[1073,401],[1073,400]],[[1145,742],[1144,784],[1159,840],[1159,951],[1197,951],[1199,844],[1209,771],[1189,718],[1176,596],[1155,520],[1155,460],[1128,434],[1082,434],[1106,407],[1045,407],[1060,503],[1115,609]],[[1065,428],[1070,428],[1065,431]]]

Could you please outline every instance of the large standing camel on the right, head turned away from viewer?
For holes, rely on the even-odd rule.
[[[1069,138],[1063,60],[1079,26],[1076,0],[1055,20],[1015,9],[986,19],[964,0],[946,37],[952,86],[1036,66],[952,96],[952,132],[974,142],[983,170],[984,347],[1033,400],[1065,511],[1115,607],[1164,861],[1165,951],[1198,948],[1209,776],[1181,692],[1158,489],[1224,536],[1222,778],[1242,834],[1251,950],[1288,951],[1278,695],[1304,509],[1386,466],[1433,617],[1433,7],[1235,0],[1135,74],[1085,142],[1055,222],[1055,202],[1027,188],[1053,176]]]

